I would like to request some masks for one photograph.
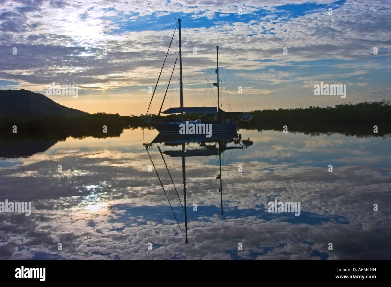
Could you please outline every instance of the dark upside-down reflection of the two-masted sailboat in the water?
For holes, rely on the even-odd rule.
[[[203,136],[203,137],[202,137]],[[162,152],[158,144],[163,144],[165,147],[178,147],[181,146],[181,149],[178,150],[167,150]],[[198,148],[196,149],[188,149],[187,147],[190,144],[198,144]],[[231,144],[230,146],[228,146]],[[156,172],[156,176],[158,177],[160,181],[160,185],[163,189],[163,192],[165,193],[165,196],[167,197],[167,201],[170,204],[172,213],[174,214],[175,220],[178,223],[179,229],[182,232],[181,226],[178,222],[178,219],[175,215],[175,212],[171,206],[169,197],[167,196],[167,193],[165,191],[165,188],[163,186],[163,183],[161,182],[160,176],[158,174],[158,171],[156,170],[154,161],[152,160],[151,155],[149,154],[149,150],[156,145],[159,149],[161,158],[163,159],[163,162],[165,164],[165,167],[168,171],[168,174],[170,176],[170,179],[172,181],[172,185],[174,186],[174,189],[176,191],[176,194],[178,196],[179,202],[183,208],[183,211],[185,213],[185,235],[182,235],[185,240],[185,244],[188,243],[188,237],[187,237],[187,205],[186,205],[186,157],[188,156],[219,156],[219,174],[216,176],[216,179],[220,179],[220,201],[221,201],[221,215],[224,215],[223,211],[223,202],[222,202],[222,173],[221,173],[221,155],[223,152],[230,150],[230,149],[244,149],[249,146],[251,146],[253,142],[248,140],[242,140],[242,136],[238,135],[236,131],[232,132],[226,132],[226,133],[214,133],[210,138],[206,138],[204,135],[179,135],[179,134],[161,134],[159,133],[150,143],[144,143],[144,147],[146,151],[148,152],[149,158],[152,162],[152,166],[154,167],[154,170]],[[183,204],[181,202],[181,198],[178,194],[178,190],[176,189],[176,186],[174,184],[174,181],[172,179],[172,176],[170,174],[169,168],[167,167],[167,163],[164,159],[164,155],[166,154],[170,157],[181,157],[182,159],[182,182],[183,182]]]

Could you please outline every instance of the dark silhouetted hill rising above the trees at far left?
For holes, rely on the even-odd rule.
[[[28,90],[0,90],[0,116],[4,115],[33,118],[43,115],[73,117],[88,113],[57,104],[40,93]]]

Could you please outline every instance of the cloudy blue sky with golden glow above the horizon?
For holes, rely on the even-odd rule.
[[[180,16],[186,106],[216,104],[206,80],[216,82],[213,43],[220,47],[226,110],[390,99],[390,6],[366,0],[4,1],[0,89],[45,94],[53,82],[78,84],[77,99],[49,97],[90,113],[144,114]],[[177,34],[152,113],[169,81]],[[178,70],[163,108],[179,105]],[[321,81],[346,84],[346,98],[315,96]]]

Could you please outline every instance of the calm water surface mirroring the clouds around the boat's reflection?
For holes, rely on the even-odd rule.
[[[145,149],[154,130],[0,158],[0,201],[32,202],[0,213],[0,259],[391,259],[389,137],[239,133],[253,144],[224,143],[222,206],[222,143],[185,145],[187,244],[182,145]]]

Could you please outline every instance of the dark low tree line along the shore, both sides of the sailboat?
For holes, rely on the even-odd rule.
[[[356,136],[386,136],[391,133],[391,102],[361,102],[357,104],[339,104],[332,107],[309,107],[296,109],[267,109],[249,111],[253,118],[249,122],[241,122],[241,129],[282,131],[306,133],[310,135],[341,133]],[[186,115],[190,120],[200,115]],[[0,116],[1,142],[22,138],[47,138],[65,140],[66,137],[84,138],[93,136],[106,138],[120,136],[124,129],[143,127],[153,129],[144,122],[145,118],[156,118],[156,115],[120,116],[118,114],[95,113],[68,117],[65,115],[39,117]],[[160,116],[158,120],[179,119],[180,115]],[[17,134],[13,133],[17,127]],[[103,133],[107,126],[107,133]],[[378,126],[378,133],[373,133],[373,126]],[[12,139],[10,136],[12,136]]]

